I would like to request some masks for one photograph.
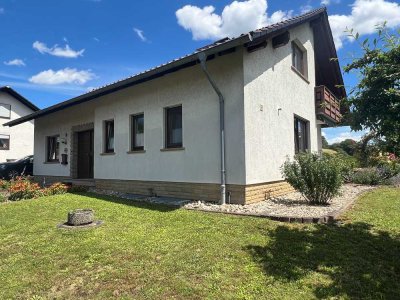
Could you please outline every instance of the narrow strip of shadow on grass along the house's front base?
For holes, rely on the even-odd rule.
[[[137,200],[131,200],[131,199],[124,199],[124,198],[119,198],[116,196],[100,195],[100,194],[90,193],[90,192],[72,192],[71,194],[87,196],[87,197],[94,198],[94,199],[101,200],[101,201],[113,202],[113,203],[117,203],[117,204],[124,204],[124,205],[128,205],[128,206],[134,206],[137,208],[156,210],[159,212],[169,212],[169,211],[174,211],[174,210],[179,209],[179,207],[177,207],[177,206],[171,206],[171,205],[159,204],[159,203],[149,203],[149,202],[145,202],[145,201],[137,201]]]

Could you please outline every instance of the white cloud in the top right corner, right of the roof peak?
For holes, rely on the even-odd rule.
[[[360,35],[372,34],[375,26],[387,21],[389,28],[400,25],[400,5],[385,0],[356,0],[351,5],[350,15],[331,15],[329,23],[337,49],[343,46],[347,37],[346,28],[354,29]]]

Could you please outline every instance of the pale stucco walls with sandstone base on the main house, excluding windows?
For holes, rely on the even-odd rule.
[[[225,98],[226,180],[231,202],[287,193],[280,167],[295,154],[294,118],[308,124],[309,150],[321,149],[316,117],[314,34],[290,28],[289,41],[216,56],[209,73]],[[292,67],[292,42],[305,50],[307,76]],[[183,147],[164,151],[164,109],[182,105]],[[130,116],[144,114],[144,151],[130,152]],[[104,152],[104,121],[114,120],[114,153]],[[75,178],[75,131],[94,129],[93,177],[99,188],[217,201],[220,184],[218,97],[198,64],[96,97],[36,120],[34,175]],[[77,129],[78,128],[78,129]],[[46,162],[46,138],[59,135],[68,164]]]

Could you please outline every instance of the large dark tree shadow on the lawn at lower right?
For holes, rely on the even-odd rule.
[[[278,226],[266,232],[266,246],[246,250],[277,280],[322,274],[311,286],[317,298],[400,299],[400,237],[370,229],[366,223]]]

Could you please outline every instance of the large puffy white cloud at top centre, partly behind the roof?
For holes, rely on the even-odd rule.
[[[291,16],[292,11],[267,15],[266,0],[233,1],[216,14],[214,6],[186,5],[175,12],[178,24],[190,31],[194,40],[235,37]]]

